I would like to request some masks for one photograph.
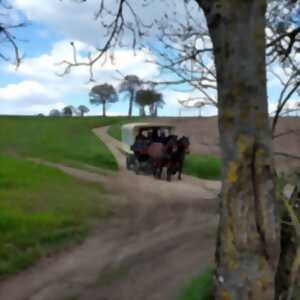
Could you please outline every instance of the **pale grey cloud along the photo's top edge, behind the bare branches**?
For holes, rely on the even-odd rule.
[[[55,31],[65,34],[70,39],[80,40],[94,45],[96,47],[103,46],[105,39],[105,29],[101,25],[102,21],[110,23],[111,17],[101,20],[95,19],[95,13],[99,9],[99,0],[89,0],[84,3],[76,3],[76,1],[64,0],[43,0],[41,5],[37,0],[13,0],[16,8],[20,9],[30,21],[39,21],[50,25]],[[115,1],[105,1],[106,8],[112,12],[116,12],[118,6]],[[152,25],[151,28],[145,29],[147,38],[151,39],[157,34],[158,29],[155,20],[161,20],[167,14],[168,19],[183,20],[186,17],[184,9],[184,1],[174,2],[173,0],[153,0],[145,7],[144,1],[132,1],[132,8],[135,13],[141,16],[144,24]],[[203,14],[196,3],[190,3],[190,13],[195,19],[203,19]],[[128,6],[124,6],[125,19],[134,24],[134,18]],[[132,40],[131,32],[125,34],[123,42]]]

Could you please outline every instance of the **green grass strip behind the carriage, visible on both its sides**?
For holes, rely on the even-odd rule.
[[[120,124],[110,126],[108,134],[121,141]],[[202,179],[219,180],[221,178],[221,160],[212,155],[189,154],[186,156],[183,173]]]

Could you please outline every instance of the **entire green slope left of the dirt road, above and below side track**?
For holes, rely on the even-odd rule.
[[[0,278],[82,240],[109,212],[101,185],[27,158],[117,170],[91,129],[118,122],[126,118],[0,117]]]

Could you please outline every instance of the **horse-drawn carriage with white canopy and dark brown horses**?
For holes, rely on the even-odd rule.
[[[188,138],[182,137],[178,140],[174,133],[174,126],[161,123],[131,123],[124,125],[122,127],[122,150],[126,154],[127,169],[134,170],[137,174],[144,172],[154,175],[156,170],[158,170],[158,177],[161,177],[162,164],[165,162],[167,152],[171,156],[173,152],[181,151],[180,153],[186,153],[188,150]],[[182,144],[180,144],[180,141],[182,139],[187,144],[182,145],[180,150],[180,145]],[[184,153],[182,158],[184,158]],[[181,160],[181,157],[178,159]],[[181,161],[182,163],[183,160]],[[171,170],[171,172],[174,174],[174,170]],[[168,176],[169,179],[170,176]]]

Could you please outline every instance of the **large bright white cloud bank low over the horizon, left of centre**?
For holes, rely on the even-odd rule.
[[[90,46],[80,41],[76,41],[75,44],[80,59],[83,59],[82,52],[91,50]],[[17,71],[13,65],[7,65],[6,72],[21,76],[23,80],[0,88],[0,102],[2,104],[5,102],[6,105],[6,109],[0,110],[1,113],[7,111],[8,103],[15,107],[15,111],[19,112],[22,108],[24,114],[29,114],[51,109],[54,103],[63,103],[64,101],[61,99],[70,98],[76,94],[87,97],[91,86],[96,84],[88,83],[88,68],[74,68],[70,74],[64,77],[56,74],[63,70],[61,66],[57,65],[62,57],[72,59],[72,55],[69,41],[64,40],[55,43],[49,53],[25,58]],[[153,76],[158,74],[158,68],[153,64],[146,64],[146,59],[152,59],[151,53],[147,50],[139,50],[135,54],[128,50],[118,50],[115,52],[114,64],[108,60],[105,64],[102,64],[103,61],[99,61],[95,65],[97,83],[108,82],[117,87],[120,78],[117,78],[119,75],[115,71],[116,68],[125,75],[136,74],[143,79],[153,79]],[[39,105],[42,105],[43,108]]]

